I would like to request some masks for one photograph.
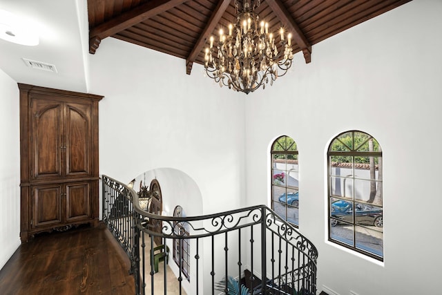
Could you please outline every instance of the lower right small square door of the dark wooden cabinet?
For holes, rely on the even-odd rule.
[[[90,185],[88,182],[66,184],[66,220],[90,218]]]

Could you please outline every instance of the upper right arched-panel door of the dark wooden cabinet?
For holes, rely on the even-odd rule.
[[[90,174],[90,105],[66,104],[66,175]]]

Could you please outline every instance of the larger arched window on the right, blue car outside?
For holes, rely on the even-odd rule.
[[[383,261],[381,146],[348,131],[332,140],[327,158],[329,241]]]

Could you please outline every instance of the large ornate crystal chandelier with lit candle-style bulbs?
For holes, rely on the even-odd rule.
[[[250,0],[242,3],[239,12],[235,0],[236,23],[229,24],[227,31],[220,29],[218,46],[213,46],[214,37],[205,49],[204,68],[206,73],[220,87],[229,86],[235,91],[250,93],[273,85],[278,77],[285,75],[291,66],[291,34],[285,37],[284,29],[279,32],[279,41],[269,33],[269,23],[260,21],[253,10],[260,6],[260,0],[251,6]]]

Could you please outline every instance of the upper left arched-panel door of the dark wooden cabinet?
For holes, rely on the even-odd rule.
[[[61,175],[61,111],[58,102],[32,100],[32,147],[34,178]]]

